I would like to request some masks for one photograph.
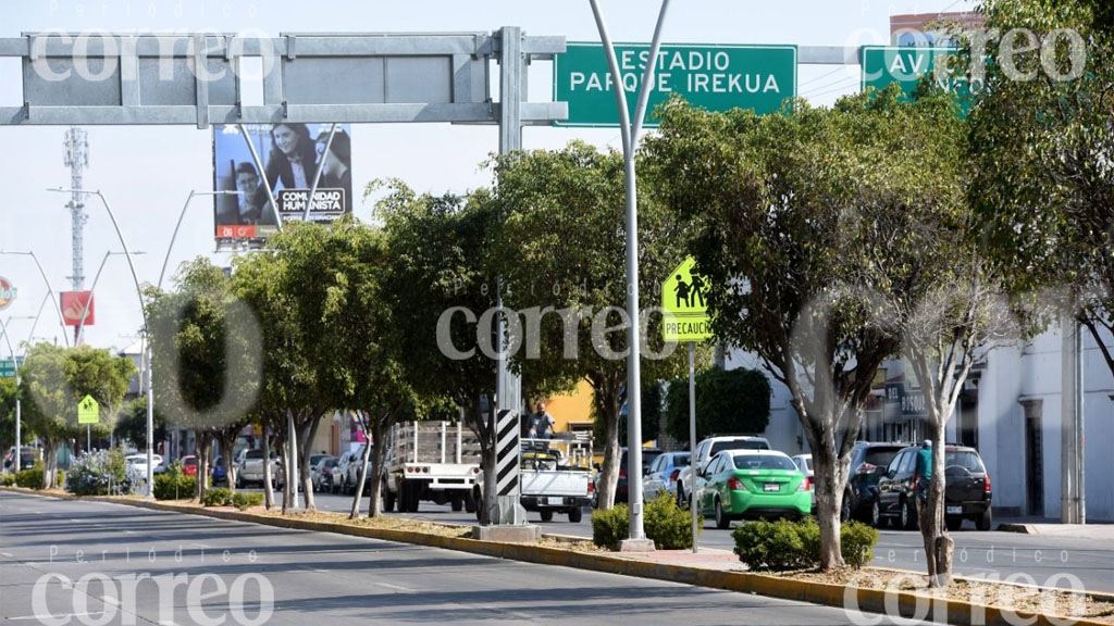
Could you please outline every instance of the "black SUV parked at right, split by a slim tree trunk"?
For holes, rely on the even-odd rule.
[[[878,480],[878,498],[872,503],[871,520],[881,528],[890,522],[915,530],[918,527],[917,454],[920,448],[909,447],[893,457],[886,473]],[[991,525],[990,475],[978,450],[962,446],[944,449],[945,487],[944,519],[948,530],[958,530],[965,519],[975,521],[979,530]]]

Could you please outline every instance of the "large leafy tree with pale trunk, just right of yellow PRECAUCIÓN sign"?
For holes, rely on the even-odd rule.
[[[651,179],[686,224],[711,278],[713,330],[784,384],[812,450],[820,565],[842,565],[839,511],[874,372],[899,334],[860,278],[871,266],[870,207],[916,203],[890,168],[921,158],[891,125],[896,88],[834,108],[798,101],[782,115],[703,113],[677,101],[645,144]],[[931,166],[922,166],[931,172]],[[892,281],[900,267],[874,267]]]

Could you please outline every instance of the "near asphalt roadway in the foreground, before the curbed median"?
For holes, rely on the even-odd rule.
[[[0,493],[0,619],[12,624],[833,625],[852,617],[436,548]]]

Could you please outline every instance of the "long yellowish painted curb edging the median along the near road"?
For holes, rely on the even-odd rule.
[[[889,616],[900,615],[901,617],[909,619],[941,622],[945,624],[954,624],[956,626],[1014,626],[1016,624],[1035,626],[1064,626],[1066,624],[1074,624],[1078,626],[1111,626],[1107,622],[1093,619],[1069,619],[1058,616],[1049,617],[1045,615],[1037,615],[1028,612],[1013,612],[994,606],[934,598],[928,595],[912,594],[909,591],[867,589],[848,587],[844,585],[779,578],[775,576],[751,574],[746,571],[722,571],[683,565],[641,561],[610,555],[575,552],[571,550],[550,548],[546,546],[496,544],[460,537],[428,535],[410,530],[361,528],[344,524],[276,518],[250,512],[185,507],[157,501],[124,500],[110,497],[78,498],[69,495],[37,493],[33,490],[18,488],[12,489],[8,487],[0,489],[37,496],[48,496],[66,500],[84,499],[114,505],[127,505],[158,511],[199,515],[226,521],[258,524],[292,530],[334,532],[338,535],[348,535],[367,539],[428,546],[522,563],[553,565],[575,569],[587,569],[604,574],[648,578],[666,583],[694,585],[697,587],[753,594],[786,600],[807,601],[836,608],[853,608],[863,613],[876,613]],[[869,571],[864,571],[863,575],[869,576],[870,574]]]

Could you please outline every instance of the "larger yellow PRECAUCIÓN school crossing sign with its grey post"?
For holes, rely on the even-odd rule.
[[[696,545],[700,511],[696,510],[696,344],[712,339],[707,315],[707,278],[694,271],[696,260],[687,257],[670,272],[662,283],[662,309],[665,320],[662,334],[665,341],[688,344],[688,467],[692,478],[688,486],[688,510],[693,516],[693,554]]]

